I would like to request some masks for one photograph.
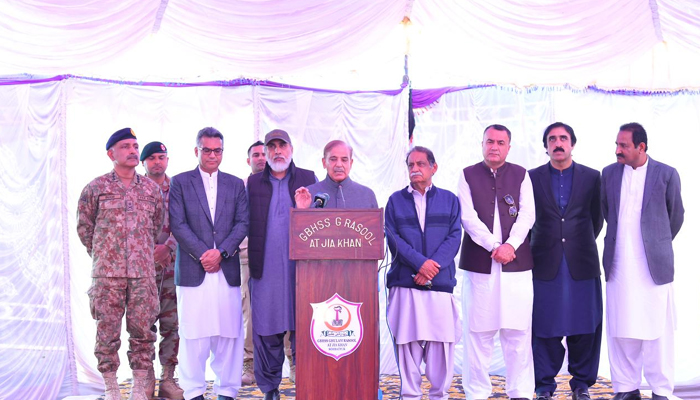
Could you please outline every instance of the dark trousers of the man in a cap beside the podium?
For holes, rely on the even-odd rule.
[[[294,331],[289,333],[292,344],[292,361],[296,362],[296,337]],[[260,391],[267,393],[279,387],[282,382],[282,365],[284,365],[284,335],[286,332],[270,336],[260,336],[253,328],[253,365],[255,381]]]

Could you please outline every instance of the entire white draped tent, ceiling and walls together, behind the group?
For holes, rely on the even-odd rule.
[[[295,162],[321,178],[323,145],[343,139],[353,178],[385,204],[408,182],[412,144],[435,151],[435,184],[456,191],[461,168],[481,159],[486,125],[511,128],[509,160],[533,168],[557,120],[576,130],[577,162],[614,162],[617,128],[638,121],[652,157],[678,169],[676,377],[697,395],[700,182],[683,149],[700,135],[697,71],[691,0],[0,0],[0,399],[102,390],[75,209],[109,170],[102,146],[115,130],[165,142],[171,175],[194,168],[204,126],[224,133],[222,169],[238,176],[249,173],[245,149],[270,129],[289,131]],[[412,143],[408,81],[424,89],[413,91]],[[431,90],[441,87],[452,89]],[[381,372],[395,373],[384,328],[380,350]]]

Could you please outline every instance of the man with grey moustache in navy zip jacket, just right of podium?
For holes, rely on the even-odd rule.
[[[411,184],[386,205],[387,243],[393,255],[387,274],[387,322],[401,371],[401,398],[420,400],[421,363],[430,381],[429,398],[447,399],[454,350],[462,333],[452,296],[454,258],[462,236],[457,196],[433,185],[438,165],[429,149],[406,156]]]

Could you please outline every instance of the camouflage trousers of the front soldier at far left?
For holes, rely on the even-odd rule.
[[[155,333],[150,327],[158,314],[158,294],[154,277],[93,278],[88,290],[90,313],[97,321],[95,356],[97,369],[114,372],[119,368],[122,318],[126,311],[129,332],[129,366],[148,369],[153,365]]]

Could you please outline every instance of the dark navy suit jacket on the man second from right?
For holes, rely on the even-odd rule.
[[[577,163],[573,169],[571,197],[564,214],[552,193],[549,163],[529,171],[535,194],[536,219],[530,232],[535,279],[554,279],[563,256],[574,280],[600,276],[595,243],[603,229],[600,173]]]

